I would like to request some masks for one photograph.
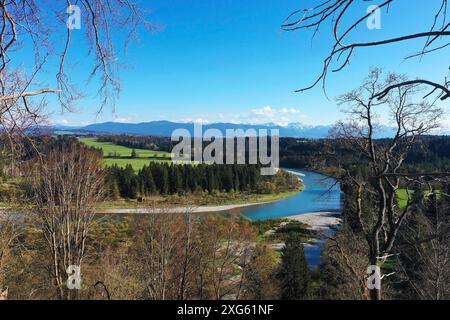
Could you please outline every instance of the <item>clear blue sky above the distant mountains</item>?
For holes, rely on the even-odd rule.
[[[330,124],[341,117],[333,101],[358,86],[371,66],[442,81],[448,75],[450,48],[421,60],[403,61],[423,41],[394,44],[356,52],[351,65],[328,79],[327,99],[320,86],[294,93],[319,74],[331,45],[331,26],[325,24],[314,40],[307,31],[283,32],[284,18],[299,7],[317,1],[294,0],[151,0],[142,1],[152,12],[148,18],[162,28],[141,33],[121,62],[122,92],[116,109],[96,117],[98,100],[81,82],[88,96],[78,112],[59,113],[49,99],[51,121],[66,125],[92,122],[144,122],[152,120],[221,122],[302,122]],[[362,1],[361,1],[362,2]],[[353,12],[364,14],[364,2]],[[431,26],[435,0],[397,0],[382,13],[382,29],[360,28],[356,37],[381,38]],[[75,31],[76,32],[76,31]],[[85,52],[80,45],[73,60]],[[81,76],[80,76],[81,79]],[[49,80],[49,82],[51,82]]]

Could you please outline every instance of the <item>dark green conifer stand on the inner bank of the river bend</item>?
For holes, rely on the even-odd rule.
[[[106,168],[106,184],[112,199],[194,192],[248,192],[271,194],[298,188],[296,177],[279,171],[262,176],[258,165],[173,165],[151,163],[137,173],[132,165]]]

